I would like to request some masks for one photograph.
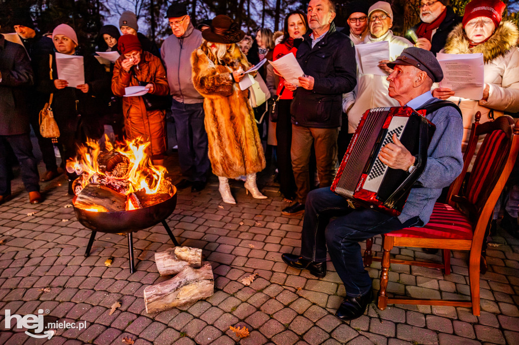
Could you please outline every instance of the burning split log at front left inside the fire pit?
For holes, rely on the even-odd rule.
[[[83,209],[105,209],[106,212],[124,211],[126,195],[103,185],[90,183],[77,195],[74,206]]]

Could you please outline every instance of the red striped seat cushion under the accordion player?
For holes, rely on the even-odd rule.
[[[463,213],[448,204],[436,203],[431,219],[424,227],[406,227],[386,236],[472,239],[472,225]]]

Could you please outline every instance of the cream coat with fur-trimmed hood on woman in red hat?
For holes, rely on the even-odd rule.
[[[463,146],[467,147],[470,128],[477,111],[481,121],[489,121],[491,111],[494,118],[504,111],[519,111],[519,32],[510,21],[503,20],[490,38],[480,45],[469,48],[469,39],[459,24],[449,34],[444,52],[448,54],[483,53],[484,81],[489,85],[489,96],[485,100],[450,97],[448,100],[459,105],[463,115]],[[480,144],[481,145],[481,144]]]

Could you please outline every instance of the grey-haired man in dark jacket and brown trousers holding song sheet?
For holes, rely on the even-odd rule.
[[[330,186],[337,163],[337,135],[342,111],[342,94],[357,84],[355,50],[348,36],[335,30],[335,5],[329,0],[311,0],[308,26],[296,58],[304,76],[292,100],[292,167],[297,185],[296,202],[282,213],[299,214],[305,210],[310,191],[308,163],[315,147],[319,186]]]

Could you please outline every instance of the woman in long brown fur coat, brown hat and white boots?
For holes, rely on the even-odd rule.
[[[191,56],[193,84],[204,96],[205,125],[209,139],[209,160],[220,180],[220,194],[227,204],[236,204],[229,178],[246,175],[245,189],[264,199],[256,186],[256,172],[265,168],[265,155],[248,90],[238,82],[250,68],[238,45],[245,33],[227,16],[216,16],[211,28],[202,32],[204,41]]]

